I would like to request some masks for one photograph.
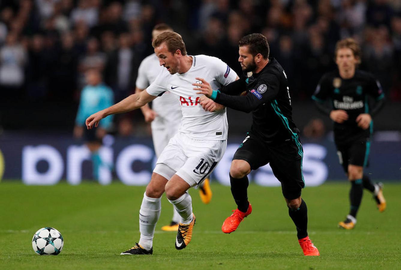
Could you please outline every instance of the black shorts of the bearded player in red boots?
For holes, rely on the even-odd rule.
[[[298,135],[294,137],[292,140],[268,144],[248,133],[233,160],[245,160],[252,170],[270,163],[274,176],[281,183],[284,197],[288,200],[296,199],[301,196],[305,181],[302,175],[304,152]]]

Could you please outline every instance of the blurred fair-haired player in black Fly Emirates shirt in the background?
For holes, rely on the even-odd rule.
[[[312,99],[318,109],[334,121],[338,157],[351,182],[350,212],[338,225],[353,229],[363,188],[373,193],[380,212],[386,208],[381,183],[373,185],[369,177],[363,175],[373,132],[372,117],[383,107],[384,94],[373,75],[356,69],[360,63],[360,48],[353,39],[337,42],[335,60],[338,70],[326,73],[320,79]],[[375,99],[372,108],[369,108],[368,96]],[[325,102],[328,99],[331,99],[331,105]]]

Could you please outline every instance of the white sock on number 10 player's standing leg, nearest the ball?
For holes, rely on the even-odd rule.
[[[153,246],[153,235],[156,223],[162,209],[161,198],[150,198],[144,193],[141,209],[139,210],[139,231],[141,238],[138,242],[142,248],[150,250]]]

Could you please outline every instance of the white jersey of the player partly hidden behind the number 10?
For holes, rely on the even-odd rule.
[[[164,67],[160,66],[159,59],[156,54],[149,55],[139,66],[138,77],[136,78],[136,87],[139,89],[146,89],[151,83],[154,82],[157,75]],[[165,116],[166,113],[180,111],[180,102],[175,95],[170,92],[164,93],[161,97],[152,101],[152,110],[159,116]]]

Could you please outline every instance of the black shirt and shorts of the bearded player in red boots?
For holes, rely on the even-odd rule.
[[[246,91],[246,95],[239,95]],[[245,160],[255,170],[270,163],[282,184],[284,197],[300,197],[304,187],[303,150],[299,130],[292,120],[287,75],[281,65],[269,59],[265,67],[251,77],[219,89],[215,102],[229,108],[252,112],[252,126],[233,160]]]

